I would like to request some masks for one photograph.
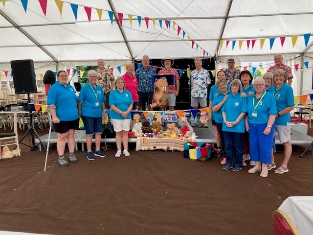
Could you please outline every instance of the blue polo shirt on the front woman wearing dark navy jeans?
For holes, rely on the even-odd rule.
[[[227,121],[236,121],[241,113],[246,113],[246,97],[240,97],[240,93],[233,95],[228,94],[228,100],[222,108],[222,112],[226,113]],[[227,127],[223,121],[223,131],[244,133],[245,132],[245,118],[242,118],[238,124],[233,127]]]

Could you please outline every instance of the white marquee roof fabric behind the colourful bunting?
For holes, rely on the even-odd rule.
[[[62,16],[56,2],[63,3]],[[77,20],[71,6],[77,6]],[[85,7],[91,8],[90,22]],[[112,23],[108,12],[113,12]],[[123,14],[122,25],[117,13]],[[46,15],[39,0],[28,0],[26,12],[21,0],[6,0],[0,3],[0,63],[31,58],[79,65],[145,54],[153,59],[213,57],[220,40],[220,57],[313,53],[313,37],[307,45],[304,40],[312,19],[312,0],[47,0]],[[298,36],[294,46],[291,36]],[[283,46],[281,37],[286,37]],[[274,39],[271,48],[269,39]],[[247,44],[251,40],[253,48]]]

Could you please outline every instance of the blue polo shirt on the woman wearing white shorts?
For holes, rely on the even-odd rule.
[[[134,104],[132,94],[127,91],[123,90],[120,93],[118,90],[113,90],[109,96],[109,105],[115,105],[120,111],[125,112],[129,108],[130,104]],[[111,111],[111,118],[113,119],[124,119],[122,115],[115,113],[113,110]],[[126,119],[131,118],[131,112],[128,113]]]

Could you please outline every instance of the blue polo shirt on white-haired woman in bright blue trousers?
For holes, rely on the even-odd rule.
[[[275,102],[274,96],[270,94],[269,92],[264,92],[263,94],[261,95],[259,99],[257,99],[255,95],[247,96],[248,121],[252,124],[266,124],[268,123],[269,115],[277,114],[277,108],[276,108],[276,102]],[[254,101],[254,104],[253,104],[253,101]]]

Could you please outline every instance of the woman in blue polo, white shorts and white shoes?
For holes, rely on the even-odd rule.
[[[122,142],[124,146],[123,154],[130,156],[128,152],[128,132],[131,123],[131,110],[133,109],[132,94],[125,90],[125,81],[118,77],[114,82],[115,90],[110,93],[109,105],[111,105],[111,122],[116,133],[115,140],[117,152],[115,157],[122,154]]]

